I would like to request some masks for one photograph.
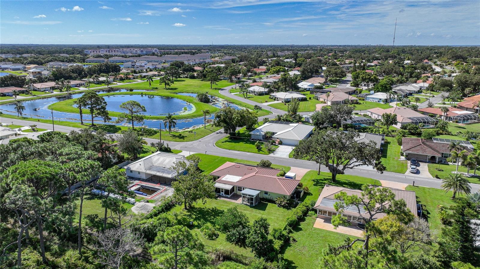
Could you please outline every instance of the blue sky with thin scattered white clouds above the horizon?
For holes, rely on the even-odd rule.
[[[0,3],[0,43],[479,45],[480,1]]]

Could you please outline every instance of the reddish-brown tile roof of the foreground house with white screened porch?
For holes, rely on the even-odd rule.
[[[274,168],[260,168],[226,162],[216,168],[210,175],[219,176],[220,178],[216,180],[218,183],[284,195],[292,194],[300,180],[277,177],[276,174],[279,171],[279,169]],[[223,180],[226,175],[241,177],[241,179],[236,182]]]

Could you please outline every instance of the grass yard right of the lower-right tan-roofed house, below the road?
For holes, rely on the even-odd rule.
[[[447,207],[453,205],[455,202],[451,199],[452,192],[448,191],[445,193],[445,191],[440,189],[413,187],[411,185],[408,185],[406,190],[415,191],[417,203],[425,205],[423,213],[427,217],[432,237],[439,235],[440,230],[444,225],[440,223],[440,219],[438,218],[437,206],[440,204]]]

